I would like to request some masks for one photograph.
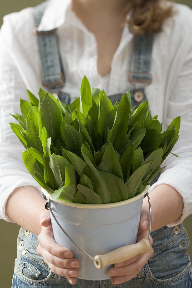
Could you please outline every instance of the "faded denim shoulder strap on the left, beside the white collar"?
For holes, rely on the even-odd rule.
[[[48,1],[37,5],[34,10],[34,18],[36,27],[39,26],[43,13],[47,7]],[[33,29],[33,33],[37,35],[39,46],[39,54],[42,64],[43,86],[52,89],[58,89],[65,82],[62,62],[60,60],[60,52],[57,38],[57,29],[51,31],[37,31]]]

